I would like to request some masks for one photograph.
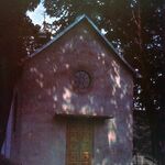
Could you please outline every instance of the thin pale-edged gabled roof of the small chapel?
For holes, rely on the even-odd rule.
[[[95,31],[96,33],[102,38],[102,42],[106,43],[107,46],[110,47],[110,52],[114,54],[117,59],[123,65],[132,75],[133,77],[141,77],[135,70],[129,65],[129,63],[119,55],[119,53],[116,51],[116,48],[112,46],[112,44],[107,40],[107,37],[99,31],[99,29],[96,26],[96,24],[86,15],[78,16],[74,23],[68,25],[63,32],[57,34],[52,41],[43,45],[41,48],[36,50],[33,54],[31,54],[30,58],[35,56],[36,54],[41,53],[43,50],[47,48],[50,45],[52,45],[55,41],[57,41],[59,37],[65,35],[67,32],[69,32],[72,29],[77,26],[80,22],[87,22]]]

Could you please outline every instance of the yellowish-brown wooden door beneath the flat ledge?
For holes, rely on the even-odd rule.
[[[94,121],[91,119],[69,119],[66,146],[66,165],[91,165]]]

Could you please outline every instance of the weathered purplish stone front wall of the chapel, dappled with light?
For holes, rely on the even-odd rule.
[[[66,120],[56,114],[113,117],[95,124],[95,165],[130,165],[132,158],[132,75],[110,47],[81,23],[28,61],[18,84],[18,128],[12,158],[23,165],[65,165]],[[89,74],[78,80],[74,75]],[[80,86],[80,88],[81,88]]]

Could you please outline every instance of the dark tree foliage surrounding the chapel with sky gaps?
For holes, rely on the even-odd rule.
[[[134,151],[152,155],[160,164],[165,164],[163,1],[1,0],[0,3],[0,145],[6,133],[12,89],[24,59],[85,13],[142,75],[134,87],[134,140],[138,142]],[[37,24],[34,20],[43,21]],[[143,134],[145,132],[147,135]],[[141,143],[147,143],[143,145],[144,150]]]

